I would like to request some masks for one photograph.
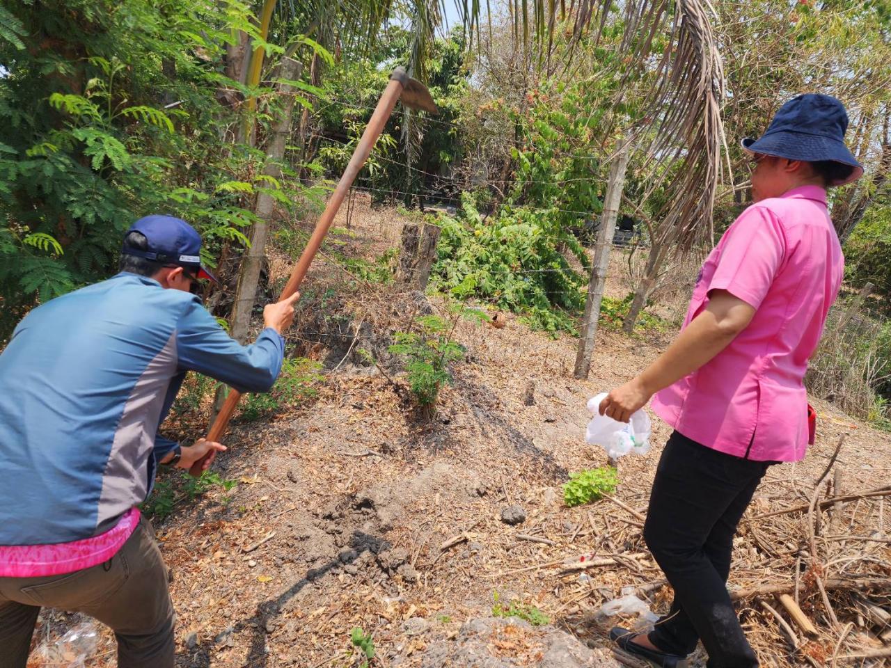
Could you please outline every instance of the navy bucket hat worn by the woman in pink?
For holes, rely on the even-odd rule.
[[[758,140],[743,139],[742,148],[749,155],[761,153],[806,162],[833,160],[854,167],[846,179],[830,183],[844,185],[863,175],[862,165],[845,145],[846,130],[845,105],[831,95],[808,93],[782,105],[767,132]]]

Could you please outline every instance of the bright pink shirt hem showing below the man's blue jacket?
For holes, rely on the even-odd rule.
[[[129,509],[104,534],[55,545],[0,545],[0,577],[40,577],[74,573],[118,554],[139,525],[139,509]]]

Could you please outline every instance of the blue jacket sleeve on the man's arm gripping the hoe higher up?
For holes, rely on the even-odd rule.
[[[198,371],[239,392],[268,392],[282,371],[284,338],[267,328],[241,346],[195,297],[177,324],[176,355],[181,371]]]

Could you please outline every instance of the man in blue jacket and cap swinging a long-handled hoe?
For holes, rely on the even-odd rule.
[[[272,387],[298,297],[267,305],[241,346],[193,294],[214,280],[200,246],[178,218],[136,221],[118,275],[32,310],[0,354],[0,668],[24,668],[44,606],[110,626],[121,668],[174,664],[167,570],[136,506],[158,464],[225,447],[159,425],[186,371]]]

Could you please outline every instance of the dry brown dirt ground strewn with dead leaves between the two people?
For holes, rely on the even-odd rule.
[[[290,344],[326,366],[315,400],[272,420],[234,423],[225,438],[231,450],[215,470],[238,485],[182,500],[156,521],[178,616],[177,666],[357,666],[354,627],[372,635],[371,665],[384,668],[612,666],[604,633],[622,620],[597,615],[601,604],[631,586],[649,595],[657,613],[666,610],[670,591],[658,586],[661,573],[642,542],[641,519],[669,429],[654,418],[650,454],[620,460],[616,501],[568,509],[560,485],[570,472],[606,463],[601,449],[584,443],[586,400],[641,370],[672,332],[626,337],[601,330],[591,376],[576,380],[576,338],[549,338],[512,316],[503,329],[459,322],[455,336],[467,360],[454,365],[454,385],[443,391],[436,419],[425,422],[356,351],[367,346],[386,356],[392,333],[424,313],[427,299],[355,281],[342,268],[344,256],[379,257],[394,246],[401,223],[392,211],[360,206],[353,230],[325,247],[305,283]],[[273,257],[274,279],[289,265],[289,258]],[[624,296],[618,279],[609,290]],[[429,304],[445,313],[442,299]],[[740,531],[732,588],[791,584],[807,543],[807,514],[756,516],[806,505],[841,434],[847,440],[838,455],[839,487],[887,485],[891,436],[814,403],[817,444],[805,461],[770,469]],[[177,427],[200,436],[198,422]],[[525,519],[506,524],[503,512],[514,506]],[[852,501],[846,513],[827,520],[836,522],[834,531],[876,540],[827,540],[827,555],[844,544],[854,558],[843,555],[824,576],[887,577],[891,559],[881,541],[891,526],[883,503]],[[567,570],[583,555],[603,565]],[[802,607],[820,626],[810,642],[823,661],[833,652],[882,647],[879,630],[867,632],[868,620],[861,616],[859,625],[843,614],[847,593],[830,591],[839,608],[834,626],[818,594],[805,595],[804,582],[800,587]],[[887,591],[870,595],[887,603]],[[494,607],[511,603],[551,623],[492,618]],[[740,611],[764,665],[804,664],[760,599],[744,599]],[[43,620],[36,642],[52,641],[77,618],[52,613]],[[86,665],[113,665],[113,648],[102,631]],[[845,661],[869,664],[853,658],[839,665]],[[701,655],[691,660],[703,664]]]

